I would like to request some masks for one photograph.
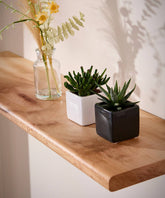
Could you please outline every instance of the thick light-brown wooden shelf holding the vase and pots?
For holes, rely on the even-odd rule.
[[[140,136],[112,144],[67,119],[64,90],[37,100],[32,62],[11,52],[0,53],[0,112],[110,191],[165,174],[165,120],[141,110]]]

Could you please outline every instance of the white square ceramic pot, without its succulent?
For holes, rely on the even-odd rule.
[[[78,96],[66,91],[66,109],[70,120],[85,126],[95,123],[95,104],[100,102],[96,94]]]

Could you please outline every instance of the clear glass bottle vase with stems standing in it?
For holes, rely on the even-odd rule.
[[[62,94],[60,63],[51,56],[36,50],[37,60],[33,65],[35,95],[40,100],[55,100]]]

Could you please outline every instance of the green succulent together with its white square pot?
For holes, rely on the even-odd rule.
[[[106,69],[101,75],[97,69],[92,74],[92,69],[93,66],[84,71],[81,67],[81,73],[73,71],[73,74],[69,72],[64,76],[68,81],[64,86],[69,90],[66,91],[67,116],[82,126],[95,123],[94,105],[98,102],[95,93],[99,92],[98,86],[106,84],[110,79],[104,75]]]

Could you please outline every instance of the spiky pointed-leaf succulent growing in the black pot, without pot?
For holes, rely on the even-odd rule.
[[[136,88],[136,85],[135,85],[134,88],[130,92],[126,93],[130,82],[131,82],[131,79],[129,79],[128,82],[125,82],[122,89],[118,86],[117,81],[115,82],[114,88],[112,87],[110,88],[108,85],[106,85],[107,90],[101,87],[100,85],[98,85],[100,90],[105,94],[104,96],[104,95],[97,93],[97,95],[100,96],[99,99],[103,102],[102,106],[104,106],[104,108],[108,110],[119,111],[119,110],[133,106],[136,103],[138,103],[138,102],[128,101],[128,98],[130,97],[130,95],[133,93],[133,91]]]

